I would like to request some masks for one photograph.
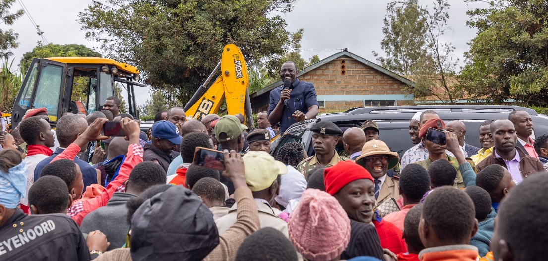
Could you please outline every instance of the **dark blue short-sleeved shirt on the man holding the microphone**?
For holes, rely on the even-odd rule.
[[[289,100],[287,101],[287,107],[283,108],[282,118],[279,119],[279,130],[283,134],[289,126],[296,123],[292,115],[295,111],[301,111],[306,114],[308,108],[311,106],[318,106],[318,98],[316,97],[316,89],[314,85],[308,82],[295,79],[295,82],[291,84],[292,91],[289,94]],[[279,102],[280,94],[283,90],[283,85],[274,88],[270,91],[270,105],[269,115]],[[319,106],[318,106],[319,107]]]

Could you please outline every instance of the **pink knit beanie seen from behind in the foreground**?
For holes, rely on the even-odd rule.
[[[289,239],[302,257],[329,261],[338,257],[350,241],[350,219],[332,195],[319,189],[302,193],[289,216]]]

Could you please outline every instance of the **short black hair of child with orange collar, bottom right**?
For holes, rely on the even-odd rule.
[[[422,218],[441,241],[469,242],[475,223],[474,204],[460,189],[439,187],[424,200]]]

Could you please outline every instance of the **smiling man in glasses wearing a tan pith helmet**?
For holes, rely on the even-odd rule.
[[[399,178],[387,175],[389,170],[398,165],[398,161],[398,154],[391,152],[386,143],[381,140],[370,140],[363,144],[362,154],[356,158],[356,164],[362,166],[373,176],[377,206],[386,200],[401,198],[398,188]]]

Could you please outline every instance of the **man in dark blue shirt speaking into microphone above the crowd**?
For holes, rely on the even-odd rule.
[[[280,69],[282,82],[290,83],[289,89],[280,85],[270,91],[269,121],[276,125],[279,122],[280,134],[298,121],[316,118],[318,99],[316,89],[311,83],[297,79],[297,68],[294,62],[284,62]],[[284,101],[287,100],[287,106]]]

